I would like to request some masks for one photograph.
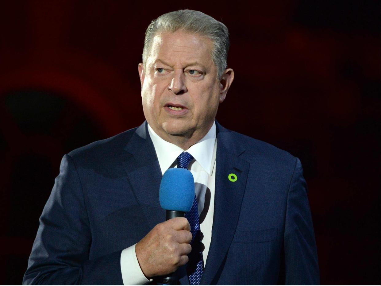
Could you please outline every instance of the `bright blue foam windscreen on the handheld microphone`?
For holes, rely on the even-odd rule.
[[[194,178],[191,171],[181,168],[165,171],[159,189],[159,201],[163,209],[189,212],[194,195]]]

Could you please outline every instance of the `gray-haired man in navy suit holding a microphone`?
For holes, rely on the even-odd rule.
[[[139,64],[146,122],[65,155],[25,284],[316,284],[300,161],[215,122],[234,79],[226,26],[198,11],[160,16]],[[158,187],[190,169],[195,200],[165,220]],[[174,182],[176,183],[176,182]]]

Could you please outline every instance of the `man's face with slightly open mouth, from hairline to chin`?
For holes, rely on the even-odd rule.
[[[229,87],[217,78],[211,48],[210,39],[195,34],[155,35],[139,75],[144,116],[160,137],[205,135],[213,125]]]

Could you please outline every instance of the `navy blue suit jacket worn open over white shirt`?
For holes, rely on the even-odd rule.
[[[201,284],[318,284],[299,159],[218,123],[217,138],[213,228]],[[65,155],[23,283],[123,284],[121,251],[165,220],[161,177],[146,122]],[[184,267],[179,273],[180,283],[189,284]]]

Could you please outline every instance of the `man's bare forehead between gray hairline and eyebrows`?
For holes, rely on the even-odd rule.
[[[211,64],[212,41],[207,37],[182,31],[161,32],[154,36],[149,61],[188,62]]]

